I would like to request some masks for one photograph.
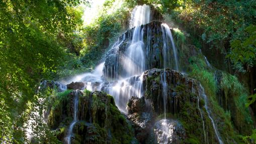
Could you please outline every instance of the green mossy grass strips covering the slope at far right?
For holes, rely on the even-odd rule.
[[[217,128],[221,134],[223,141],[239,141],[237,134],[234,131],[233,123],[239,131],[246,132],[251,129],[250,123],[252,122],[245,108],[244,88],[235,76],[222,72],[222,78],[218,84],[214,72],[205,67],[205,62],[200,56],[190,58],[190,75],[200,81],[205,89],[208,97],[208,106],[214,117]],[[225,111],[217,100],[217,92],[222,90],[225,96],[225,101],[228,101],[229,111]],[[219,98],[218,98],[219,99]],[[200,102],[200,106],[202,106]],[[247,119],[246,119],[247,118]],[[209,121],[210,122],[210,121]],[[208,120],[206,119],[206,123]],[[246,124],[245,124],[246,123]],[[211,124],[211,123],[209,123]]]

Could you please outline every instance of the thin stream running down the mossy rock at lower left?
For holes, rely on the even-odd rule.
[[[71,136],[73,133],[73,127],[75,125],[75,123],[77,122],[77,111],[78,111],[78,94],[79,94],[79,90],[75,90],[75,94],[74,94],[74,103],[73,103],[73,121],[71,122],[71,124],[69,125],[68,131],[67,131],[67,136],[65,137],[65,142],[67,144],[71,144]]]

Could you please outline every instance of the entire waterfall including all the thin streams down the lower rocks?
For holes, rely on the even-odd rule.
[[[160,84],[162,86],[163,96],[163,119],[157,121],[157,129],[160,129],[159,134],[161,135],[159,139],[161,142],[159,143],[168,143],[168,137],[172,137],[174,128],[172,128],[173,121],[166,118],[167,103],[172,103],[167,102],[167,97],[169,96],[168,92],[170,90],[168,91],[168,83],[166,80],[168,79],[168,75],[166,77],[166,68],[180,70],[178,50],[174,43],[172,32],[167,24],[154,22],[148,24],[149,22],[150,7],[146,5],[136,6],[131,13],[131,30],[124,33],[112,46],[106,54],[105,62],[99,64],[92,73],[87,72],[79,74],[75,77],[65,79],[62,82],[68,84],[73,81],[80,81],[84,82],[84,88],[90,91],[105,91],[114,97],[119,110],[126,113],[126,106],[129,99],[131,99],[132,96],[140,98],[144,95],[143,72],[152,68],[163,68],[163,72],[160,73]],[[154,29],[156,27],[157,29]],[[159,43],[154,43],[155,41]],[[204,58],[207,65],[211,67],[205,56]],[[153,60],[151,61],[151,59]],[[222,144],[223,142],[221,141],[217,127],[208,110],[207,97],[204,93],[204,89],[201,85],[200,88],[199,96],[205,101],[204,107],[208,117],[211,119],[216,137],[219,143]],[[66,89],[66,85],[60,85],[60,89]],[[78,92],[79,90],[75,92],[73,120],[69,125],[67,136],[65,137],[66,143],[71,142],[73,126],[78,120]],[[209,140],[206,136],[205,121],[203,119],[202,109],[199,105],[199,97],[197,99],[197,108],[202,119],[204,141],[207,143]]]

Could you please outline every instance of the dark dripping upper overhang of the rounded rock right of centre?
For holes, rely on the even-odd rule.
[[[177,114],[182,109],[184,102],[196,103],[197,97],[191,95],[194,93],[198,95],[199,83],[182,73],[166,68],[151,69],[144,72],[143,87],[145,99],[151,102],[152,110],[158,115],[163,113],[163,85],[162,80],[165,76],[166,79],[166,113]]]

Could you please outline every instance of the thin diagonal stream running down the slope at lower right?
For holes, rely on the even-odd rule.
[[[216,134],[216,136],[217,136],[217,138],[218,138],[218,141],[219,141],[220,144],[223,144],[223,142],[222,142],[222,140],[221,140],[221,137],[220,137],[220,135],[219,135],[219,131],[218,131],[218,129],[217,129],[215,123],[214,123],[214,120],[213,120],[213,118],[211,117],[210,112],[209,112],[209,110],[208,110],[208,104],[207,104],[207,103],[208,103],[208,99],[207,99],[207,96],[205,95],[204,88],[202,87],[201,84],[200,84],[200,91],[199,91],[199,94],[200,94],[200,96],[201,96],[201,97],[204,99],[204,101],[205,101],[204,107],[205,107],[205,109],[206,109],[206,112],[207,112],[207,114],[208,114],[208,117],[211,119],[211,122],[212,122],[212,125],[213,125],[213,128],[214,128],[214,132],[215,132],[215,134]]]

